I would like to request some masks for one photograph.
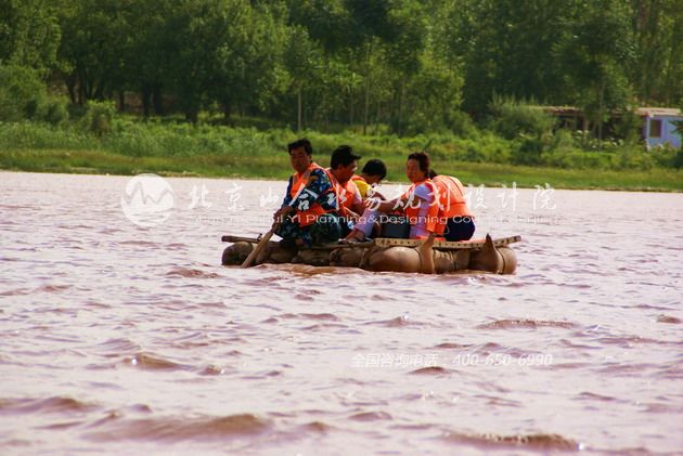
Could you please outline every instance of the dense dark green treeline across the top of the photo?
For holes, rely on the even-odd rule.
[[[682,106],[681,43],[680,0],[0,0],[0,121],[59,117],[56,89],[323,131],[458,134],[495,96],[600,123]]]

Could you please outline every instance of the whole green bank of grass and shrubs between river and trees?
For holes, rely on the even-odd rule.
[[[291,173],[285,145],[306,135],[313,143],[314,158],[321,165],[328,165],[334,147],[350,144],[363,158],[385,160],[389,168],[388,180],[392,182],[405,182],[405,156],[428,146],[434,168],[439,173],[459,177],[465,184],[511,186],[515,182],[519,187],[532,187],[547,182],[555,188],[683,191],[683,170],[661,166],[673,160],[675,152],[647,153],[620,144],[606,151],[585,151],[567,138],[558,140],[557,136],[505,140],[485,131],[469,138],[449,134],[370,136],[352,131],[296,134],[287,129],[194,127],[160,120],[143,123],[127,118],[105,123],[103,132],[93,132],[88,126],[0,123],[0,168],[285,179]],[[537,142],[530,147],[529,141]],[[540,166],[515,164],[515,156],[527,149],[537,154]],[[543,166],[547,162],[555,166]]]

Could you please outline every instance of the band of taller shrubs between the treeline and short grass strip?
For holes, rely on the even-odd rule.
[[[153,119],[146,122],[132,117],[109,116],[111,106],[89,106],[78,121],[0,123],[0,149],[101,151],[128,157],[178,157],[209,160],[215,164],[286,164],[285,146],[298,136],[308,136],[314,146],[314,159],[328,165],[332,151],[349,144],[363,157],[390,162],[392,173],[402,174],[405,156],[427,148],[435,168],[452,162],[513,164],[563,169],[649,170],[654,167],[683,165],[683,155],[671,148],[645,151],[640,144],[619,142],[592,143],[582,149],[568,131],[555,134],[523,134],[506,140],[490,131],[478,131],[474,138],[450,133],[418,134],[399,138],[395,134],[362,135],[352,131],[327,134],[317,131],[300,133],[288,129],[257,130],[223,126],[172,122]],[[55,116],[59,120],[60,116]],[[199,158],[201,157],[201,158]],[[679,161],[676,161],[679,160]],[[207,164],[209,162],[207,161]],[[210,165],[207,165],[210,166]],[[259,165],[260,166],[260,165]]]

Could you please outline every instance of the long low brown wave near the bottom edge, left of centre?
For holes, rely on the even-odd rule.
[[[183,441],[254,435],[272,429],[269,420],[253,414],[229,415],[218,418],[114,419],[104,421],[100,427],[103,429],[92,432],[89,435],[91,439],[98,441],[119,441],[121,439]]]

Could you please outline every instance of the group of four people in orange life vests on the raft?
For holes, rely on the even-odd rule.
[[[287,152],[295,172],[273,216],[283,247],[310,247],[339,239],[361,243],[382,233],[384,214],[405,216],[411,239],[434,234],[437,239],[467,240],[475,232],[462,183],[435,173],[426,152],[408,156],[405,175],[412,185],[390,200],[374,190],[387,174],[382,160],[369,160],[358,175],[361,157],[348,145],[332,153],[330,168],[313,161],[313,148],[307,139],[288,144]]]

